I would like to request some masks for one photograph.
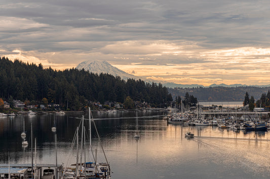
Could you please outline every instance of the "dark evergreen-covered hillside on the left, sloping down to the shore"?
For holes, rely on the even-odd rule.
[[[94,74],[78,69],[44,69],[42,64],[14,62],[0,58],[0,97],[3,99],[57,103],[78,110],[89,101],[115,101],[123,103],[127,96],[133,101],[147,102],[164,107],[172,101],[171,94],[162,84],[141,80],[122,80],[109,74]]]

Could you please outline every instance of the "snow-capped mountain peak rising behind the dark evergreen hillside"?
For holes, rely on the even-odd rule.
[[[134,75],[128,74],[122,70],[119,70],[116,67],[113,67],[112,65],[110,65],[108,62],[106,61],[85,61],[82,62],[81,64],[79,64],[76,69],[85,69],[86,71],[92,72],[92,73],[108,73],[112,76],[120,76],[121,79],[123,80],[127,80],[129,78],[135,79],[135,80],[143,80],[146,81],[143,78],[140,77],[136,77]],[[148,81],[148,80],[147,80]]]

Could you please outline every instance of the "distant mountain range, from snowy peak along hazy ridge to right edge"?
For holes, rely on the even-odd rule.
[[[168,88],[198,88],[198,87],[203,87],[203,88],[209,88],[209,87],[246,87],[246,86],[251,86],[251,87],[270,87],[269,85],[242,85],[242,84],[233,84],[233,85],[226,85],[226,84],[212,84],[210,86],[203,86],[203,85],[198,85],[198,84],[192,84],[192,85],[182,85],[182,84],[176,84],[176,83],[170,83],[166,81],[154,81],[154,80],[148,80],[145,78],[140,78],[136,77],[134,75],[128,74],[116,67],[113,67],[106,61],[84,61],[80,63],[76,69],[82,70],[85,69],[86,71],[92,72],[92,73],[108,73],[112,76],[120,76],[121,79],[127,80],[127,79],[134,79],[134,80],[143,80],[147,83],[162,83],[162,85],[168,87]]]

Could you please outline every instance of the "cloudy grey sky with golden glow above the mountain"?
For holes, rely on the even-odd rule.
[[[0,2],[0,56],[56,70],[107,61],[177,84],[270,84],[270,1]]]

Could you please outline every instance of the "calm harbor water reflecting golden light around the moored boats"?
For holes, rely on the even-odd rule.
[[[112,178],[269,178],[270,133],[245,133],[217,127],[183,127],[167,125],[162,112],[138,113],[140,139],[134,140],[135,112],[94,114],[101,143],[113,171]],[[86,118],[88,115],[85,114]],[[140,117],[149,115],[152,117]],[[81,113],[57,116],[53,114],[0,118],[0,160],[8,163],[31,163],[30,145],[21,146],[23,120],[30,142],[31,123],[36,138],[37,163],[55,163],[54,119],[57,127],[58,163],[66,163],[75,129]],[[122,118],[130,117],[130,118]],[[111,119],[114,118],[114,119]],[[89,122],[86,123],[89,125]],[[194,139],[184,133],[191,131]],[[88,142],[88,140],[87,140]],[[98,160],[105,161],[92,125],[92,145]],[[80,146],[81,147],[81,146]],[[70,163],[75,162],[72,151]]]

